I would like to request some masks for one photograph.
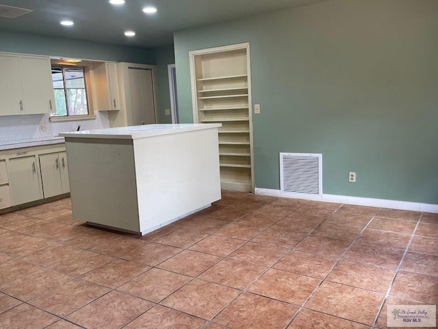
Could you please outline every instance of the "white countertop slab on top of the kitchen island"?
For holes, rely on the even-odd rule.
[[[220,127],[221,123],[178,123],[158,125],[133,125],[129,127],[114,127],[95,130],[82,130],[79,132],[62,132],[60,136],[73,138],[111,138],[111,139],[137,139],[168,134],[179,134]]]

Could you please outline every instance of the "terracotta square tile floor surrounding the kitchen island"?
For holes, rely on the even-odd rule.
[[[438,215],[222,191],[147,234],[0,216],[0,328],[386,328],[438,304]]]

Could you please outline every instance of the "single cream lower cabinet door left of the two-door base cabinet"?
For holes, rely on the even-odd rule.
[[[14,206],[42,199],[35,156],[12,158],[9,163]]]

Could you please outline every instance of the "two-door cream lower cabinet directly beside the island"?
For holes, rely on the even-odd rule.
[[[39,160],[44,198],[70,192],[66,152],[40,154]]]

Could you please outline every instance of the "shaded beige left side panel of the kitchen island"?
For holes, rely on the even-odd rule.
[[[66,137],[76,219],[140,233],[132,140]]]

